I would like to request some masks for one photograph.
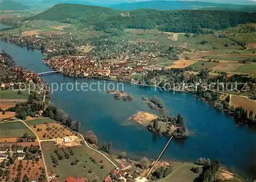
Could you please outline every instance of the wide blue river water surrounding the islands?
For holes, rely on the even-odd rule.
[[[35,72],[50,71],[42,63],[40,51],[30,51],[16,45],[0,41],[0,49],[12,55],[18,65]],[[94,83],[100,80],[76,79],[52,74],[43,76],[51,83]],[[112,81],[100,81],[102,84],[117,84]],[[140,98],[144,95],[158,95],[165,102],[164,114],[177,116],[182,113],[185,118],[189,136],[186,140],[173,140],[161,160],[194,162],[205,157],[211,160],[221,159],[231,171],[248,179],[256,178],[256,129],[239,125],[224,112],[218,112],[202,99],[188,93],[155,91],[152,87],[124,84],[124,91],[131,93],[134,99],[130,102],[115,100],[113,95],[103,91],[67,91],[54,92],[52,102],[71,115],[73,120],[81,122],[81,133],[92,130],[99,141],[111,141],[113,152],[126,151],[127,157],[156,159],[168,138],[148,132],[146,128],[126,119],[137,111],[152,112]]]

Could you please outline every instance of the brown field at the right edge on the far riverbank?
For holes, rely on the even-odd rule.
[[[242,106],[248,113],[250,111],[253,111],[254,114],[256,113],[256,101],[248,98],[230,95],[230,105],[234,107]]]

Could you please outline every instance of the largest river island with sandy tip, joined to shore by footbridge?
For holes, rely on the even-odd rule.
[[[139,111],[128,121],[134,121],[146,127],[149,131],[166,136],[174,135],[176,138],[184,138],[188,135],[184,118],[180,113],[175,116],[157,116],[152,113]]]

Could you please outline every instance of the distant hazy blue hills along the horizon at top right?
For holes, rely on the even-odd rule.
[[[225,2],[224,2],[225,3]],[[155,10],[192,10],[192,9],[229,9],[229,10],[250,10],[255,6],[230,5],[206,2],[189,2],[189,1],[146,1],[137,3],[122,3],[111,6],[111,8],[122,11],[132,11],[136,9],[155,9]]]

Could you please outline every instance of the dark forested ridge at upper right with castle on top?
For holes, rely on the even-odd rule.
[[[240,23],[256,22],[256,13],[220,10],[148,11],[135,10],[130,16],[115,16],[96,23],[96,30],[158,29],[166,32],[198,33],[202,28],[220,30]]]

